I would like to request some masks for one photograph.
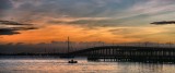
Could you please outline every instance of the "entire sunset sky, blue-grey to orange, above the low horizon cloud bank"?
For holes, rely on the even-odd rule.
[[[175,0],[0,0],[0,42],[170,42]]]

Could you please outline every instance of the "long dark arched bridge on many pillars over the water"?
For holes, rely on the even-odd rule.
[[[70,56],[85,56],[90,61],[133,61],[175,63],[175,48],[102,46],[69,52]]]

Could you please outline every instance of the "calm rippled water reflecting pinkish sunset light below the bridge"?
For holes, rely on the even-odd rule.
[[[174,73],[175,64],[151,64],[133,62],[88,62],[77,58],[79,63],[67,63],[59,58],[0,58],[0,73]]]

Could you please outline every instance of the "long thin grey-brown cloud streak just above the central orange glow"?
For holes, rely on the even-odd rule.
[[[110,17],[78,17],[74,20],[50,20],[47,24],[65,24],[65,25],[79,25],[85,27],[106,27],[106,26],[119,26],[124,20],[115,20]]]

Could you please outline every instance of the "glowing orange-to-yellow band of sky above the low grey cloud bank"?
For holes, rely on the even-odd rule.
[[[166,40],[168,36],[160,33],[164,27],[95,27],[89,28],[74,25],[49,25],[39,29],[20,31],[21,34],[1,36],[2,42],[38,44],[65,41],[69,36],[72,41],[105,41],[105,42],[139,42]],[[155,35],[154,35],[155,34]],[[159,35],[160,34],[160,35]],[[161,36],[161,37],[160,37]]]

